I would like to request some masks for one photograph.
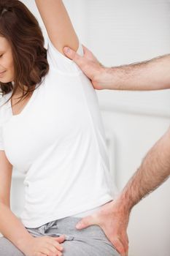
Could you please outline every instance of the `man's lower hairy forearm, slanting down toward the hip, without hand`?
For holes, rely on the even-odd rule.
[[[139,169],[117,198],[123,211],[130,212],[143,197],[159,187],[170,175],[170,129],[150,149]]]

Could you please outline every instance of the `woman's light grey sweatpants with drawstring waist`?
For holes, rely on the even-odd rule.
[[[48,222],[41,227],[27,228],[32,236],[61,236],[66,240],[62,243],[63,256],[118,256],[114,246],[107,239],[98,225],[77,230],[75,225],[82,218],[66,217]],[[1,256],[23,256],[23,253],[7,238],[0,238]]]

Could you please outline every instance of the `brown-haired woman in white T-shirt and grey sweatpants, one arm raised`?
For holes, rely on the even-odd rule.
[[[75,227],[115,196],[95,91],[63,55],[82,45],[61,0],[36,5],[47,50],[26,6],[0,1],[0,255],[117,255],[101,227]],[[9,207],[13,166],[26,174],[20,219]]]

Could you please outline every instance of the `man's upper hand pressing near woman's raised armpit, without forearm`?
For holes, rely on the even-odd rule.
[[[93,83],[94,89],[104,89],[106,83],[105,67],[96,59],[93,53],[82,45],[84,50],[84,56],[80,56],[74,50],[65,47],[63,48],[64,53],[69,59],[72,59],[79,67],[82,72],[90,78]]]

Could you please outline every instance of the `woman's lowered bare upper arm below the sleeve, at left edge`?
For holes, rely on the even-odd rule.
[[[10,207],[10,188],[12,180],[12,165],[5,151],[0,150],[0,202]]]

